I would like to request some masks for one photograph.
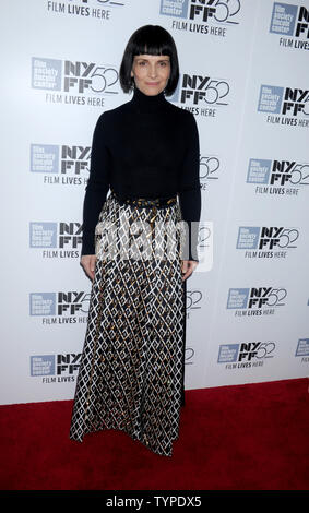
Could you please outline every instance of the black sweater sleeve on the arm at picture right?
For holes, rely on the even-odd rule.
[[[188,229],[183,260],[199,262],[197,248],[201,218],[200,141],[195,118],[189,114],[189,142],[181,172],[179,203]]]

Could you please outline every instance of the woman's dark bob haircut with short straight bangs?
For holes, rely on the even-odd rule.
[[[179,63],[175,41],[171,35],[159,25],[144,25],[130,37],[119,70],[119,81],[124,93],[134,88],[131,76],[134,56],[169,56],[170,75],[164,90],[167,96],[173,95],[179,80]]]

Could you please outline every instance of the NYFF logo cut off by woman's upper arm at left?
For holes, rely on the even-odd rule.
[[[60,186],[86,186],[91,146],[31,144],[31,172],[43,182]]]

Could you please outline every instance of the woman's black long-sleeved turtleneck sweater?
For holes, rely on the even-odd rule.
[[[111,188],[119,198],[179,194],[188,223],[189,253],[198,261],[201,215],[200,146],[192,112],[175,106],[164,92],[148,96],[138,87],[130,102],[103,112],[96,123],[83,208],[83,254],[95,254],[94,232]]]

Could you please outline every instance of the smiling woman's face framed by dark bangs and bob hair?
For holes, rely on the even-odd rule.
[[[142,93],[154,96],[167,85],[170,75],[169,56],[134,56],[131,76]]]

